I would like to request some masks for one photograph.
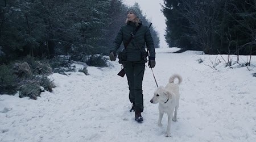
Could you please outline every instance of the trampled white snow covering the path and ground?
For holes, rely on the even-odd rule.
[[[126,76],[117,76],[121,65],[114,61],[108,68],[88,66],[89,76],[52,74],[57,87],[36,101],[0,95],[0,141],[254,141],[255,56],[248,68],[232,56],[231,69],[222,59],[227,55],[174,51],[156,49],[153,69],[158,85],[166,85],[174,73],[183,77],[171,137],[164,136],[167,115],[158,127],[158,105],[150,103],[156,89],[151,69],[146,68],[143,80],[144,122],[137,123],[129,111]],[[240,56],[241,64],[246,60]]]

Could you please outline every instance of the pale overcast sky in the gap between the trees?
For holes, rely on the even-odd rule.
[[[155,30],[158,31],[160,37],[160,48],[167,48],[168,45],[164,38],[164,33],[166,29],[165,16],[161,12],[161,5],[163,5],[164,0],[122,0],[126,5],[134,5],[135,2],[139,3],[141,10],[146,14],[147,19],[152,22]]]

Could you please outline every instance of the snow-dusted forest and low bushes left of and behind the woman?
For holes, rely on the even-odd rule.
[[[48,76],[74,71],[74,61],[108,66],[104,56],[125,25],[127,8],[117,0],[1,0],[0,94],[19,91],[36,99],[55,87]],[[143,11],[139,19],[150,25]],[[159,48],[155,27],[150,30]],[[79,71],[88,74],[86,66]]]

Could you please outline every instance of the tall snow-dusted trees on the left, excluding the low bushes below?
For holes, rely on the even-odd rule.
[[[108,55],[126,14],[118,0],[1,0],[0,63],[26,55]],[[154,27],[151,33],[158,48]]]

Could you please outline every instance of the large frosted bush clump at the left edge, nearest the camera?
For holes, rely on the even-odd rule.
[[[48,61],[35,61],[32,57],[25,57],[18,62],[0,67],[0,94],[14,94],[19,91],[19,97],[36,99],[40,96],[40,87],[52,91],[53,81],[47,76],[52,73]]]

